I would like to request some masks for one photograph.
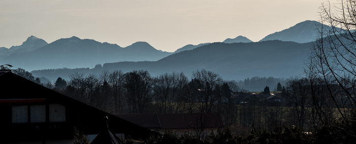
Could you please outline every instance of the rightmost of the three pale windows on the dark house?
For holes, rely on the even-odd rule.
[[[49,122],[66,122],[66,107],[60,104],[49,104]]]

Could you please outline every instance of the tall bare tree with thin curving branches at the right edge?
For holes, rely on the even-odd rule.
[[[333,114],[335,119],[327,119],[332,117],[328,115],[332,112],[322,111],[318,106],[316,108],[321,111],[324,125],[332,125],[339,130],[334,139],[344,141],[356,137],[356,132],[350,129],[356,110],[353,91],[356,86],[356,1],[322,4],[320,22],[322,25],[318,25],[318,37],[313,43],[307,64],[307,76],[322,79],[327,92],[325,94],[336,109]]]

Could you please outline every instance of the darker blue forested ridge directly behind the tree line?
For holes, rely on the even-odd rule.
[[[224,79],[244,79],[253,76],[290,77],[303,73],[310,43],[265,41],[255,43],[212,43],[198,48],[174,53],[156,62],[105,63],[96,69],[77,69],[82,73],[101,73],[102,70],[148,70],[156,76],[163,73],[206,69],[220,74]],[[76,70],[38,70],[35,76],[50,75],[68,79]],[[61,73],[64,73],[63,75]]]

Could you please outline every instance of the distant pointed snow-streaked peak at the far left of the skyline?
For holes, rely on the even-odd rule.
[[[22,45],[12,46],[9,49],[5,47],[1,47],[0,55],[5,56],[13,53],[26,53],[26,52],[34,51],[37,48],[43,47],[47,44],[48,43],[43,39],[37,38],[35,36],[30,36],[27,38],[26,41],[22,43]]]

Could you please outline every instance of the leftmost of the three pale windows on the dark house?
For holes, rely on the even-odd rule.
[[[27,123],[27,105],[12,106],[12,123]]]

